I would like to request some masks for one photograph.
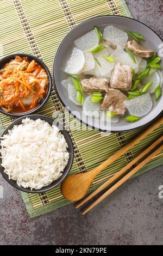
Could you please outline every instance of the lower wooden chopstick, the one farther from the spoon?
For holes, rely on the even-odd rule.
[[[109,188],[101,197],[99,197],[93,204],[91,204],[85,211],[82,212],[82,215],[86,214],[86,212],[90,211],[95,205],[100,203],[105,197],[109,196],[116,188],[120,187],[125,181],[127,181],[131,176],[133,176],[138,170],[140,170],[146,163],[148,163],[155,155],[159,154],[160,151],[163,150],[163,145],[161,145],[158,149],[156,149],[151,155],[149,155],[145,160],[143,160],[140,164],[138,164],[133,170],[131,170],[128,174],[126,174],[120,181],[118,181],[114,186]]]

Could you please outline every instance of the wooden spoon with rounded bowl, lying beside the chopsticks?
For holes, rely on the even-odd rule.
[[[154,124],[149,126],[143,133],[137,136],[133,141],[129,142],[122,149],[118,150],[114,155],[110,156],[103,163],[99,164],[99,166],[90,170],[89,172],[79,173],[69,176],[62,182],[61,191],[64,197],[70,201],[77,201],[83,198],[93,179],[95,179],[96,175],[108,167],[111,163],[116,161],[119,157],[124,155],[128,150],[134,147],[137,143],[139,143],[143,138],[145,138],[148,134],[154,131],[157,127],[163,124],[163,117],[158,119]]]

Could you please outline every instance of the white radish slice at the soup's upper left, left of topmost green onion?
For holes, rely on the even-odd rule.
[[[98,45],[98,42],[99,39],[94,29],[93,31],[90,31],[87,34],[80,36],[80,38],[74,40],[76,47],[83,52],[89,50],[93,46]]]

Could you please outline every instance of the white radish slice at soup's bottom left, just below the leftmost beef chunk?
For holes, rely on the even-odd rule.
[[[99,117],[101,103],[91,102],[92,96],[87,96],[83,103],[83,112],[88,117]]]

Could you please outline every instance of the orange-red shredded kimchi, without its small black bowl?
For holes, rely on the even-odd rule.
[[[0,107],[8,113],[30,111],[42,103],[48,84],[35,60],[16,56],[0,69]]]

